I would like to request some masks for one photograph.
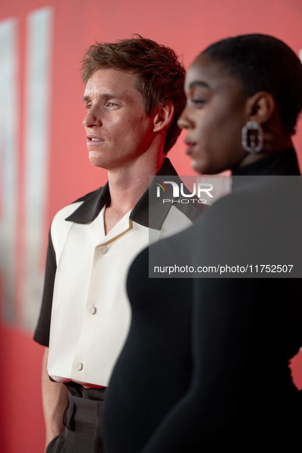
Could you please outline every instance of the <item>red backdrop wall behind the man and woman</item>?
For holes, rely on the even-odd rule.
[[[85,48],[95,39],[113,41],[139,33],[169,45],[183,54],[186,66],[211,42],[244,33],[272,34],[298,54],[302,48],[302,4],[300,0],[10,0],[2,2],[0,21],[16,18],[18,50],[18,105],[14,127],[17,134],[17,265],[13,319],[0,325],[0,436],[1,451],[35,453],[43,451],[44,425],[40,398],[42,348],[35,344],[31,329],[22,321],[22,294],[25,278],[25,209],[22,201],[25,181],[24,108],[26,20],[33,10],[50,6],[52,12],[52,52],[49,107],[49,150],[47,196],[43,220],[44,243],[40,250],[43,269],[47,232],[55,212],[79,196],[99,187],[105,171],[93,168],[87,159],[82,120],[83,86],[79,62]],[[1,43],[0,43],[1,45]],[[290,70],[290,68],[289,68]],[[5,106],[1,106],[5,109]],[[302,127],[295,136],[302,163]],[[0,150],[1,151],[1,150]],[[179,174],[194,174],[184,156],[181,140],[169,156]],[[0,169],[1,170],[1,169]],[[1,216],[1,209],[0,209]],[[1,285],[1,278],[0,278]],[[1,301],[4,303],[4,301]],[[36,314],[37,316],[37,314]],[[35,320],[32,320],[34,325]],[[299,354],[301,355],[301,354]],[[292,364],[293,377],[302,388],[302,360]]]

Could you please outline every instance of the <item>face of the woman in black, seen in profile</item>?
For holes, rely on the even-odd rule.
[[[178,126],[187,129],[184,141],[193,169],[202,174],[235,168],[247,155],[241,130],[249,120],[242,85],[223,65],[199,56],[185,78],[187,105]]]

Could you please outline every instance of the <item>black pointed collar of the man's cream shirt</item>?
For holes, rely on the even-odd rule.
[[[156,176],[177,176],[177,173],[168,158],[165,159],[164,164]],[[150,187],[152,187],[153,184],[156,184],[156,182],[153,181]],[[156,216],[153,215],[152,220],[149,222],[150,187],[132,209],[130,219],[140,225],[160,230],[171,208],[172,202],[158,204],[158,207],[156,208]],[[83,201],[81,206],[79,206],[78,209],[76,209],[75,212],[73,212],[71,216],[67,217],[65,220],[77,223],[90,223],[94,221],[98,217],[106,202],[110,202],[108,182],[103,187],[95,190],[95,192],[91,192],[90,194],[76,200],[76,202],[79,201]]]

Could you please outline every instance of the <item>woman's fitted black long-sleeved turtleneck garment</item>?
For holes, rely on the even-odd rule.
[[[299,170],[294,150],[284,150],[234,174],[299,175]],[[295,231],[302,231],[301,216],[295,216],[302,207],[298,180],[296,197],[285,187],[265,221],[253,212],[255,200],[261,204],[263,187],[243,182],[191,228],[152,248],[160,256],[163,251],[187,254],[196,266],[201,256],[211,258],[217,243],[228,244],[224,251],[232,256],[235,219],[246,231],[248,250],[257,256],[257,237],[249,237],[253,228],[260,232],[261,247],[274,226],[284,233],[300,222]],[[265,189],[271,188],[268,178]],[[217,237],[209,233],[213,229]],[[296,240],[284,249],[301,250],[301,240]],[[280,451],[291,451],[302,422],[288,368],[302,344],[301,279],[149,279],[145,250],[130,268],[127,288],[132,323],[103,415],[108,453],[218,451],[226,446],[257,451],[260,445],[265,450],[283,442],[286,450]]]

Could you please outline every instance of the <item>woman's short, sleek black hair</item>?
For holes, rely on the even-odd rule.
[[[295,133],[302,110],[302,65],[287,44],[273,36],[242,35],[216,42],[202,54],[221,62],[229,74],[239,79],[246,96],[258,91],[270,93],[284,131]]]

